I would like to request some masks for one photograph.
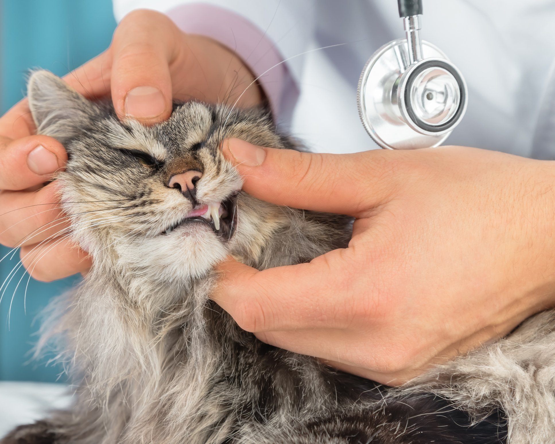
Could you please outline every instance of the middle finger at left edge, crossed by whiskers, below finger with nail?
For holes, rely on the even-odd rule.
[[[0,193],[0,243],[11,248],[21,247],[65,233],[69,219],[58,200],[55,183],[35,192]]]

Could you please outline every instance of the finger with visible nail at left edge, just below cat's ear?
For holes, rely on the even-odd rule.
[[[63,170],[65,162],[64,147],[52,137],[28,136],[13,141],[0,137],[0,190],[24,190],[46,182]]]

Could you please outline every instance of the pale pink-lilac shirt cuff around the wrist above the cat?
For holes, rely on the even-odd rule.
[[[274,118],[278,117],[284,88],[294,81],[282,63],[284,58],[264,32],[234,12],[205,3],[184,4],[167,14],[184,32],[206,35],[238,54],[259,77]]]

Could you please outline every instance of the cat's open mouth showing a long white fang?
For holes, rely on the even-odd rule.
[[[237,196],[233,193],[223,202],[197,205],[183,219],[171,224],[161,234],[169,234],[186,223],[206,223],[223,241],[229,241],[237,226]]]

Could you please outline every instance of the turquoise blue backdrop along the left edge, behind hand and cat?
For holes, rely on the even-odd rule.
[[[0,0],[0,112],[22,99],[29,69],[46,68],[64,75],[108,48],[114,28],[111,0]],[[0,258],[7,251],[0,247]],[[18,253],[12,261],[0,262],[0,283],[17,261]],[[63,380],[63,376],[58,379],[60,368],[44,362],[24,364],[36,341],[33,333],[38,325],[33,320],[49,298],[77,278],[51,284],[31,279],[24,313],[26,276],[13,297],[8,329],[9,305],[21,275],[20,270],[0,303],[0,380]]]

